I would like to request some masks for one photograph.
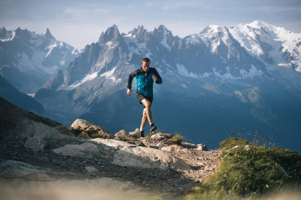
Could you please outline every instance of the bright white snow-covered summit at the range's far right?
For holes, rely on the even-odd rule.
[[[293,33],[262,21],[229,29],[242,47],[268,65],[285,66],[301,72],[301,33]]]

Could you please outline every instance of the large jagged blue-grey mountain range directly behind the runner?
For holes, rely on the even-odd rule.
[[[164,25],[128,33],[113,25],[56,71],[34,99],[64,125],[81,118],[113,133],[133,130],[142,106],[135,95],[126,96],[126,82],[149,57],[163,79],[154,85],[152,106],[161,131],[211,147],[231,133],[262,133],[266,141],[271,135],[276,145],[300,152],[300,45],[301,34],[262,21],[208,25],[184,38]]]

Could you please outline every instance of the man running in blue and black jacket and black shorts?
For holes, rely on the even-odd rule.
[[[162,79],[158,72],[154,68],[150,68],[151,61],[149,58],[143,58],[141,61],[141,68],[135,70],[128,76],[127,81],[127,92],[126,94],[130,96],[132,94],[131,85],[133,78],[137,78],[137,91],[136,97],[143,104],[143,116],[141,121],[141,126],[139,129],[140,136],[144,137],[144,126],[149,120],[151,131],[157,129],[157,127],[152,122],[151,117],[151,102],[152,102],[152,85],[153,81],[157,84],[162,83]]]

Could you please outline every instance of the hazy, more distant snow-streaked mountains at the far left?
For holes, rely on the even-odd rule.
[[[79,55],[72,46],[58,41],[47,28],[37,33],[18,27],[0,28],[0,74],[19,91],[35,93],[59,69]]]

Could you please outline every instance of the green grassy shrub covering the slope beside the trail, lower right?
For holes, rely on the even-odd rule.
[[[186,199],[259,197],[268,191],[301,182],[301,156],[296,151],[280,147],[269,149],[238,138],[226,139],[220,145],[222,154],[218,171],[191,190]],[[246,145],[250,148],[246,149]],[[239,147],[231,149],[235,146]],[[277,163],[289,177],[282,175]]]

